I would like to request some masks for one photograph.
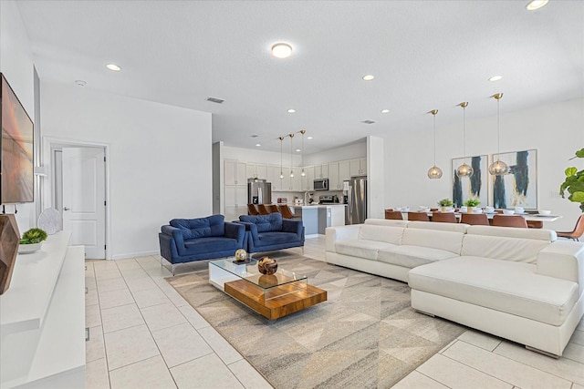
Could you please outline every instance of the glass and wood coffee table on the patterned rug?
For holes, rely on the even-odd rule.
[[[327,291],[308,284],[308,277],[281,269],[266,275],[257,261],[238,264],[234,258],[209,261],[209,282],[269,320],[327,301]]]

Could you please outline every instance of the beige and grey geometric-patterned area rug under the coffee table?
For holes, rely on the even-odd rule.
[[[277,389],[391,387],[465,331],[413,311],[406,283],[286,251],[270,258],[307,274],[328,302],[270,322],[212,286],[206,269],[167,281]]]

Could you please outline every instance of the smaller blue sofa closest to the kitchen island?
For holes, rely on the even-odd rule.
[[[282,220],[280,213],[239,217],[247,233],[246,250],[249,253],[301,247],[304,253],[304,225],[302,220]]]

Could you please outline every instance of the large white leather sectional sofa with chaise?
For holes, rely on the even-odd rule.
[[[584,313],[584,243],[552,230],[366,220],[328,228],[326,256],[408,282],[418,311],[554,356]]]

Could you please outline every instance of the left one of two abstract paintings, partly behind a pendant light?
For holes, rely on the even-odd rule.
[[[481,205],[487,205],[488,194],[486,189],[487,179],[487,156],[475,156],[453,159],[453,201],[454,207],[461,207],[468,199],[478,199]],[[470,178],[460,179],[456,176],[456,169],[463,163],[473,168],[473,175]]]

